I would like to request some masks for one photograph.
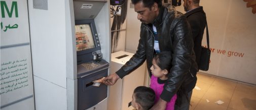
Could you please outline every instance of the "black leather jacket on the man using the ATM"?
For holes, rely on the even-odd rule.
[[[171,51],[172,68],[164,85],[161,98],[170,101],[180,85],[189,85],[191,91],[196,83],[197,65],[193,51],[193,39],[186,17],[177,11],[168,12],[161,7],[158,17],[153,22],[157,28],[160,51]],[[154,54],[154,34],[152,24],[141,24],[140,39],[134,56],[116,73],[120,78],[131,73],[147,60],[147,67],[151,76]],[[139,73],[142,74],[142,73]],[[193,82],[193,84],[191,84]],[[190,87],[191,86],[191,87]]]

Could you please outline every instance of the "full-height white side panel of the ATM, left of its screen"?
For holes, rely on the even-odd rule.
[[[67,109],[65,1],[47,1],[48,10],[28,1],[36,109]]]

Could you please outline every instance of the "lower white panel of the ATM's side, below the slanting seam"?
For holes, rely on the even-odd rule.
[[[66,88],[37,76],[33,78],[36,109],[67,109]]]

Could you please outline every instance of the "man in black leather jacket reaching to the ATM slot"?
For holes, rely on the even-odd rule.
[[[165,109],[166,103],[182,85],[191,92],[196,84],[197,64],[193,51],[193,39],[186,17],[177,11],[168,12],[161,0],[132,0],[137,19],[140,20],[140,39],[134,56],[116,73],[103,82],[114,85],[119,78],[131,73],[147,60],[151,76],[153,54],[155,54],[153,25],[156,27],[160,51],[171,51],[172,68],[164,85],[159,101],[151,109]],[[143,74],[143,73],[141,73]],[[189,105],[189,102],[182,103]]]

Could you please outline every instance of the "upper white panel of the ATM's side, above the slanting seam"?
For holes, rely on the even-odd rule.
[[[28,1],[33,75],[66,88],[64,1],[48,1],[48,10]]]

